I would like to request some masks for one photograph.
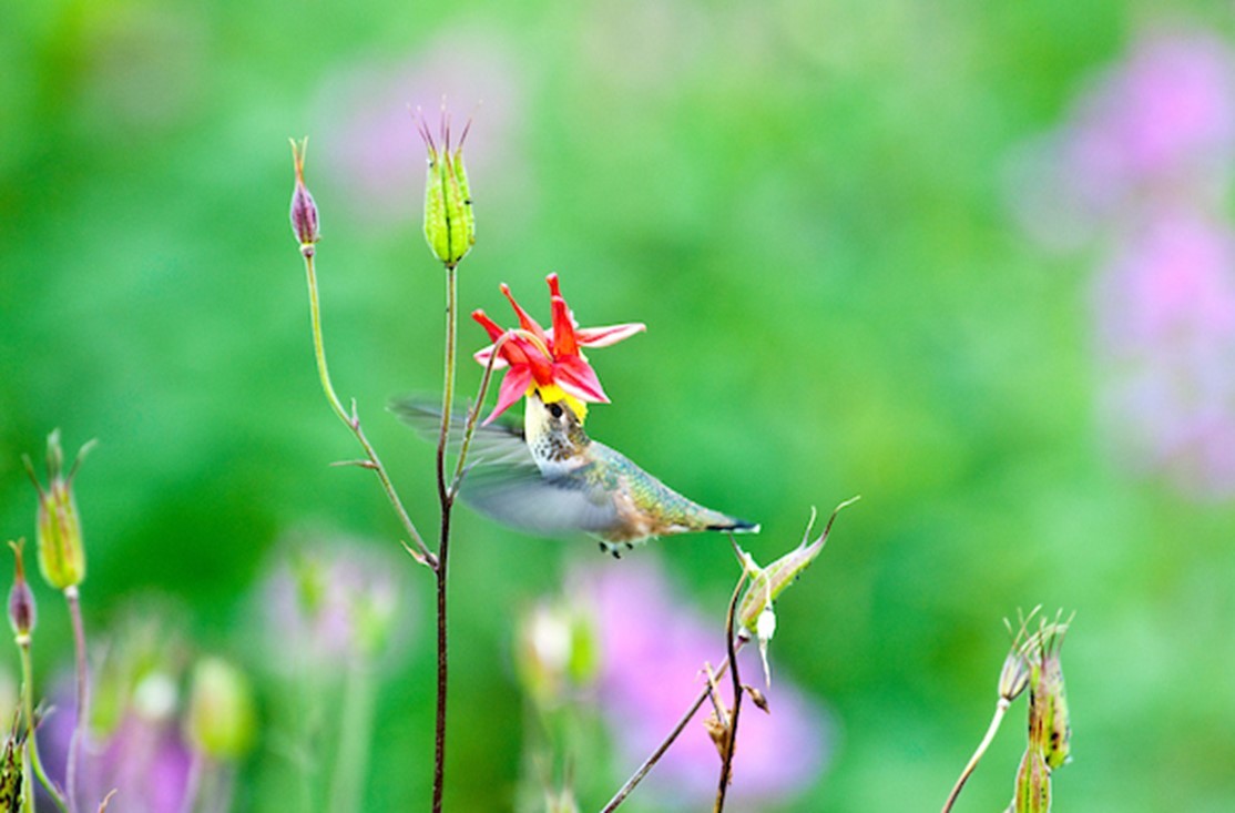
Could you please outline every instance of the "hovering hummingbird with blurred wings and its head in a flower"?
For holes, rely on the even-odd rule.
[[[758,533],[757,524],[683,497],[618,450],[592,440],[567,403],[546,404],[534,390],[525,404],[522,426],[478,425],[472,440],[475,462],[468,466],[461,494],[492,519],[540,534],[583,531],[615,558],[624,547],[657,536]],[[440,413],[431,406],[399,402],[394,410],[422,434],[440,426]]]

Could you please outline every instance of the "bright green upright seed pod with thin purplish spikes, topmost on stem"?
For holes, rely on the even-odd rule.
[[[424,119],[416,122],[425,141],[429,173],[425,179],[425,240],[447,267],[453,268],[475,243],[475,213],[463,167],[463,142],[471,122],[463,127],[458,145],[451,146],[450,120],[442,111],[441,148],[433,141]]]

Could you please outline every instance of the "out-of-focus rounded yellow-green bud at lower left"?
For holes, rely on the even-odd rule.
[[[257,713],[243,672],[219,657],[205,657],[193,671],[185,736],[204,755],[233,760],[253,744]]]

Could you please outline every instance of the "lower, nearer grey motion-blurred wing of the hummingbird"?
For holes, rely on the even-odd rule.
[[[471,472],[462,495],[482,514],[534,534],[599,534],[618,523],[618,509],[604,491],[582,478],[545,478],[535,463]]]

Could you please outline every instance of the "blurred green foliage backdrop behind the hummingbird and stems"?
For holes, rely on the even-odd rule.
[[[781,602],[778,673],[837,723],[830,770],[789,809],[941,804],[993,708],[1000,619],[1039,603],[1077,612],[1074,762],[1056,777],[1057,809],[1230,809],[1233,502],[1112,453],[1094,257],[1036,245],[1008,189],[1021,145],[1141,31],[1184,20],[1230,35],[1229,11],[10,4],[0,535],[33,535],[21,455],[37,460],[56,426],[70,449],[98,437],[78,481],[88,625],[107,629],[135,596],[170,596],[185,636],[245,662],[259,699],[270,689],[254,663],[270,655],[252,610],[270,562],[306,529],[363,539],[406,571],[409,642],[375,696],[366,809],[426,804],[431,579],[400,558],[372,478],[329,466],[357,450],[312,366],[287,138],[310,136],[336,387],[429,530],[430,449],[384,406],[441,378],[442,274],[420,234],[408,105],[432,111],[446,94],[457,124],[474,120],[464,313],[509,321],[508,282],[547,319],[543,277],[558,272],[583,324],[646,322],[593,353],[614,403],[589,429],[762,521],[761,560],[797,542],[811,505],[863,495]],[[471,351],[484,336],[467,321],[461,339]],[[478,373],[464,360],[464,393]],[[683,597],[719,619],[736,577],[726,545],[658,547],[631,558],[663,555]],[[592,555],[462,513],[454,809],[514,803],[510,618]],[[70,641],[38,589],[49,675]],[[1020,720],[958,811],[1007,803]],[[242,767],[238,809],[288,809],[274,739]],[[613,767],[613,787],[627,770]]]

